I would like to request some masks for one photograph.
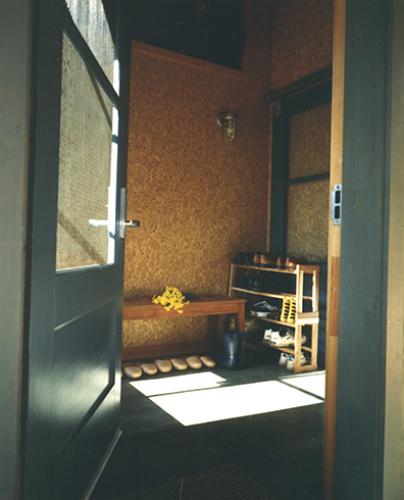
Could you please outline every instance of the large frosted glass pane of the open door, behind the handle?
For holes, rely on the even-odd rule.
[[[63,40],[57,269],[114,262],[116,110]],[[114,123],[113,123],[114,122]],[[111,186],[111,188],[110,188]],[[113,194],[109,194],[113,193]]]

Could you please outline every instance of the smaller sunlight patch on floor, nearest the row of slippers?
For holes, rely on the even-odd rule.
[[[159,394],[216,388],[224,382],[226,382],[225,378],[213,372],[201,372],[166,376],[154,380],[137,380],[131,382],[130,385],[145,396],[157,396]]]

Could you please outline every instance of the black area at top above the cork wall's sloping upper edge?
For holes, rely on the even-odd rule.
[[[136,0],[128,16],[133,40],[240,69],[241,0]]]

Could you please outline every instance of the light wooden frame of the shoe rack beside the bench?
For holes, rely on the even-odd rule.
[[[266,272],[266,273],[282,273],[287,275],[296,276],[295,283],[295,293],[283,293],[283,292],[271,292],[270,290],[253,290],[250,288],[245,288],[242,286],[237,286],[237,270],[244,269],[252,272]],[[311,275],[311,294],[304,295],[304,280],[306,275]],[[274,325],[284,326],[285,328],[293,328],[295,332],[295,343],[292,347],[276,347],[266,342],[261,342],[260,345],[264,347],[269,347],[271,349],[277,349],[281,352],[286,352],[288,354],[293,354],[295,356],[295,373],[308,372],[317,370],[317,352],[318,352],[318,332],[320,324],[319,315],[319,287],[320,287],[320,267],[314,265],[297,264],[295,269],[279,269],[273,267],[261,267],[247,264],[231,264],[230,265],[230,278],[229,278],[229,296],[234,296],[235,293],[242,293],[245,295],[251,295],[256,297],[267,297],[270,299],[280,299],[283,300],[287,297],[293,297],[296,300],[296,316],[293,323],[286,321],[280,321],[279,319],[273,319],[268,317],[257,317],[258,320],[272,323]],[[307,304],[311,308],[311,311],[304,310],[307,309]],[[309,326],[311,328],[310,332],[310,345],[302,345],[302,335],[303,327]],[[301,353],[309,353],[310,359],[305,365],[301,365],[300,357]]]

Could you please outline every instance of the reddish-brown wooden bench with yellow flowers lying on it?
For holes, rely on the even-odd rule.
[[[152,304],[151,297],[136,296],[124,300],[123,319],[180,319],[196,316],[209,317],[209,339],[206,342],[173,343],[161,345],[140,345],[128,347],[123,350],[123,360],[153,358],[158,356],[171,356],[176,354],[206,352],[215,342],[216,322],[214,318],[222,315],[234,315],[237,330],[244,330],[245,299],[239,297],[223,297],[219,295],[204,295],[183,308],[183,313],[166,311],[159,304]]]

